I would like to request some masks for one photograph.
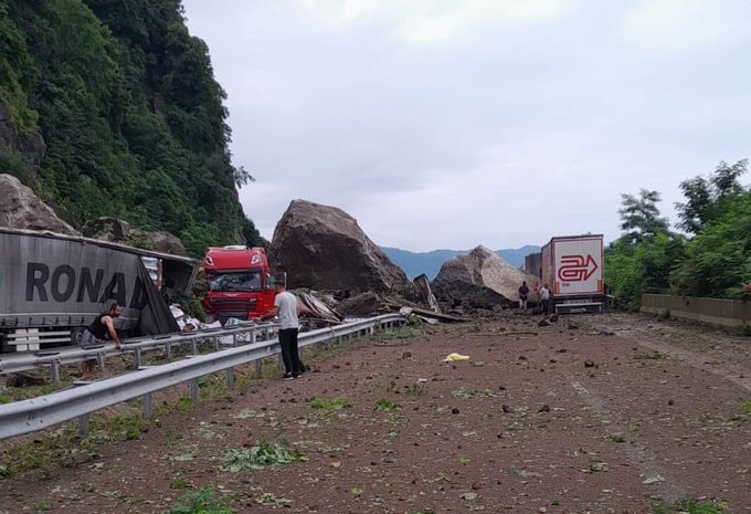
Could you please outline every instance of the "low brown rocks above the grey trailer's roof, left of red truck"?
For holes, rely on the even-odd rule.
[[[127,221],[117,218],[97,218],[84,223],[81,231],[87,238],[123,243],[129,246],[154,250],[172,255],[188,255],[186,246],[177,235],[169,232],[149,232],[131,229]]]

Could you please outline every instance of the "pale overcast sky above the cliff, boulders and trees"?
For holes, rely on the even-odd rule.
[[[673,216],[683,179],[751,157],[747,0],[183,4],[269,240],[296,198],[412,251],[612,240],[622,192]]]

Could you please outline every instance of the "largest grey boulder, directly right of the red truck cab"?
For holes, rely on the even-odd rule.
[[[404,272],[341,209],[293,200],[274,230],[269,258],[289,287],[403,293]]]

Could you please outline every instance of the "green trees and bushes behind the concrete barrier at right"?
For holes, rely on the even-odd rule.
[[[610,291],[632,310],[642,293],[751,296],[751,187],[740,177],[748,160],[720,162],[706,177],[680,182],[677,230],[660,218],[659,192],[622,195],[624,231],[605,252]]]

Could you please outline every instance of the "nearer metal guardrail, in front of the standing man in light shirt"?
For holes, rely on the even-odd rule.
[[[402,321],[399,314],[387,314],[311,331],[300,334],[299,346],[314,345],[314,350],[317,350],[318,344],[332,344],[335,340],[341,346],[345,337],[373,334],[376,328],[390,327]],[[29,400],[0,405],[0,440],[44,430],[74,419],[78,420],[78,434],[85,437],[88,433],[88,415],[139,397],[144,401],[145,417],[151,418],[152,392],[190,381],[191,397],[197,401],[200,377],[226,371],[228,386],[233,387],[235,366],[255,361],[257,373],[264,358],[278,354],[281,348],[277,339],[251,343],[186,360],[141,368],[105,380],[80,382],[78,387]]]

